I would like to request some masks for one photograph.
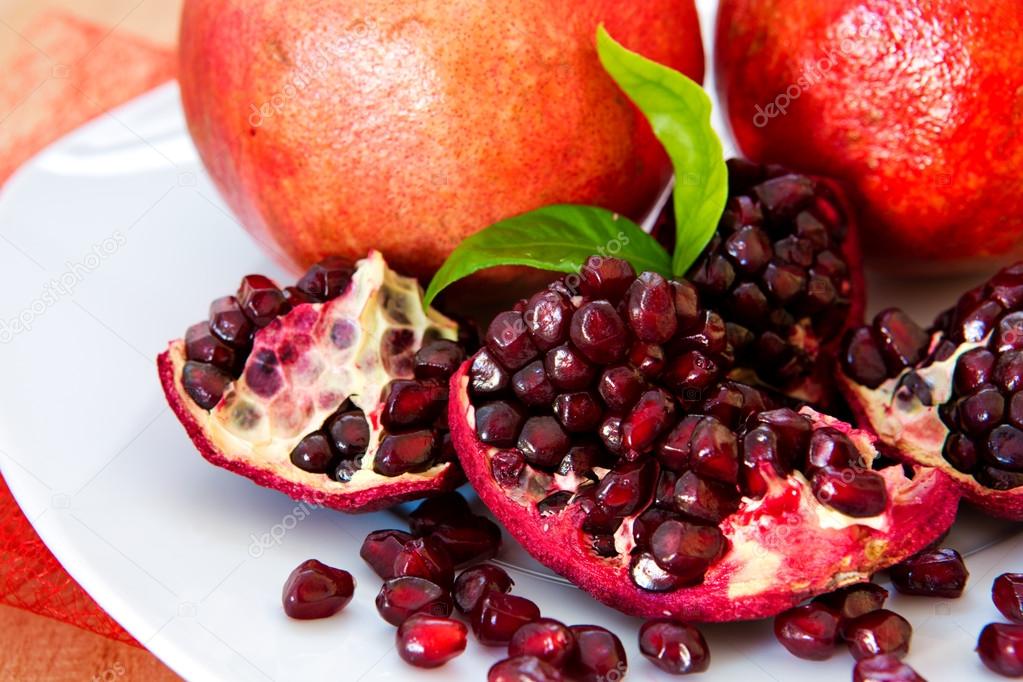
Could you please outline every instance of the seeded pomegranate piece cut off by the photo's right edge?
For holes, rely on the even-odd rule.
[[[1023,263],[929,331],[883,311],[841,357],[840,387],[886,454],[940,468],[988,513],[1023,519]]]

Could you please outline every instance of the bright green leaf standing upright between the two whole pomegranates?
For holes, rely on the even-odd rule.
[[[710,97],[699,83],[624,48],[596,30],[601,63],[650,120],[675,168],[672,270],[684,275],[717,229],[728,195],[721,140],[710,125]]]

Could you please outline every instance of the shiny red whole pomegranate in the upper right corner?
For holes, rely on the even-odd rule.
[[[715,71],[743,152],[838,178],[876,264],[1023,254],[1023,3],[722,0]]]

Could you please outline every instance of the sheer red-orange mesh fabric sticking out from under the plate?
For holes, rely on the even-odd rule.
[[[81,124],[174,77],[173,50],[66,14],[16,38],[0,79],[0,184]],[[0,479],[0,602],[136,643],[60,566]]]

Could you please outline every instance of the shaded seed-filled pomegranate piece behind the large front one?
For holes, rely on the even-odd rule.
[[[852,215],[829,180],[728,161],[728,202],[687,279],[726,323],[735,376],[832,402],[832,358],[865,303]],[[671,201],[654,233],[673,248]]]

